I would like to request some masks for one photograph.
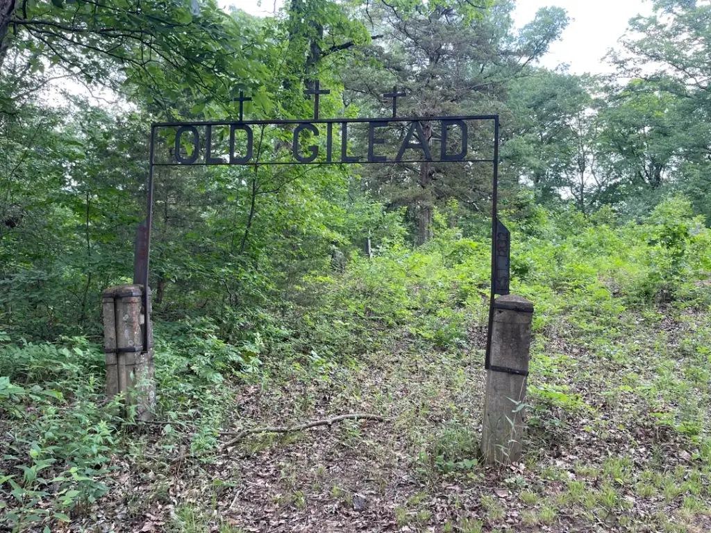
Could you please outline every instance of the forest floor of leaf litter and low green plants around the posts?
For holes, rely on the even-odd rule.
[[[353,254],[298,289],[317,305],[294,304],[250,341],[225,343],[205,318],[156,323],[156,424],[102,401],[97,345],[5,335],[3,524],[703,531],[711,233],[688,209],[673,198],[622,224],[535,208],[533,234],[510,222],[513,291],[536,306],[513,465],[479,457],[488,244],[456,230]],[[348,412],[384,420],[225,447],[242,429]]]

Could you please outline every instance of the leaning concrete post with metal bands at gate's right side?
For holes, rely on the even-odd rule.
[[[487,463],[514,463],[521,457],[532,319],[533,304],[521,296],[494,301],[481,434]]]

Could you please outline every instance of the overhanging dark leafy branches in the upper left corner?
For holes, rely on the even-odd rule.
[[[255,32],[214,0],[2,0],[0,67],[11,48],[34,71],[151,87],[166,113],[184,91],[227,104],[235,79],[246,87],[262,73]]]

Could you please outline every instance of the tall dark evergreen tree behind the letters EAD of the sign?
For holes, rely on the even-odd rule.
[[[488,6],[484,6],[488,7]],[[561,9],[539,11],[518,32],[510,12],[513,3],[498,1],[490,9],[472,11],[458,2],[390,4],[368,11],[373,31],[385,37],[366,50],[370,65],[344,76],[348,90],[376,112],[387,113],[385,89],[397,85],[409,97],[401,114],[438,116],[495,112],[505,98],[506,85],[545,53],[565,28]],[[366,99],[367,98],[367,99]],[[424,127],[424,142],[432,144],[433,131]],[[491,195],[491,178],[464,166],[420,163],[398,166],[385,173],[370,173],[371,190],[385,194],[392,205],[408,205],[417,219],[417,242],[432,237],[432,215],[437,204],[450,198],[479,210]]]

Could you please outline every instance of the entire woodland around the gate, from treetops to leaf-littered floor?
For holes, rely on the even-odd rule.
[[[654,0],[606,76],[542,68],[568,15],[514,9],[0,0],[0,529],[711,529],[711,4]],[[403,117],[500,117],[521,463],[479,460],[478,163],[157,167],[154,422],[105,397],[151,123],[235,119],[240,92],[309,118],[317,82],[324,118],[388,117],[393,87]],[[230,441],[353,412],[383,420]]]

